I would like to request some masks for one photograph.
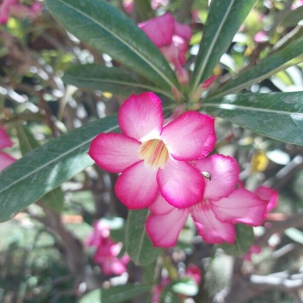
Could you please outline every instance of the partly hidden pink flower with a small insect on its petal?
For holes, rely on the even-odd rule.
[[[233,244],[236,223],[262,224],[267,203],[255,193],[235,188],[239,176],[235,159],[216,154],[196,161],[194,166],[205,176],[204,198],[191,207],[177,209],[159,194],[146,221],[147,234],[155,246],[174,246],[189,215],[208,243]]]

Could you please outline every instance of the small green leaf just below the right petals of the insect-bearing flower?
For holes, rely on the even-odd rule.
[[[227,243],[218,245],[221,247],[227,255],[235,257],[241,257],[246,254],[254,243],[254,231],[251,226],[244,224],[237,224],[236,228],[236,240],[233,245]]]

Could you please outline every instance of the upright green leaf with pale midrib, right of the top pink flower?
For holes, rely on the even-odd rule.
[[[256,0],[212,0],[190,81],[190,96],[212,73]]]

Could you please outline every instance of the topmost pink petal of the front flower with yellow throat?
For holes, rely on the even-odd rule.
[[[140,142],[158,138],[163,121],[161,100],[153,92],[132,94],[125,100],[118,113],[122,131]]]

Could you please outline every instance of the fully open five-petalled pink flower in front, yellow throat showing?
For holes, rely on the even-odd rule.
[[[121,106],[123,133],[100,133],[89,156],[118,177],[115,191],[129,209],[150,206],[158,191],[177,208],[203,197],[205,181],[188,161],[206,157],[214,148],[214,119],[189,111],[163,126],[160,98],[152,92],[132,94]]]

